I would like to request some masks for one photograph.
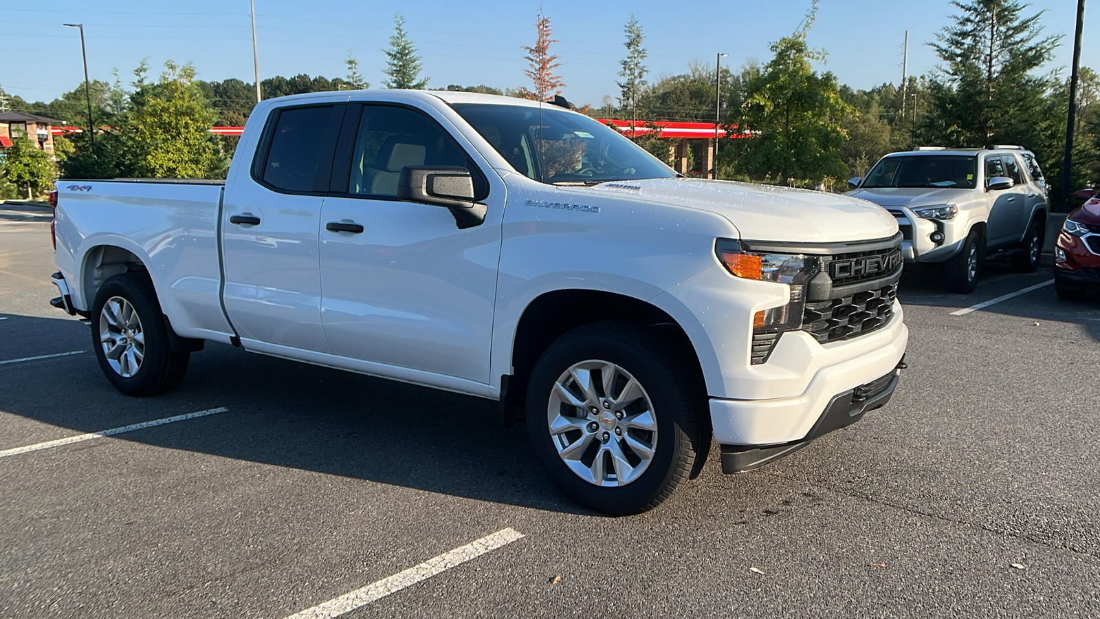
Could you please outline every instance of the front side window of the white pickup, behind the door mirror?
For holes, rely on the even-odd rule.
[[[465,167],[473,176],[477,199],[488,194],[481,171],[433,119],[408,108],[364,106],[352,149],[348,193],[396,197],[397,180],[407,165]]]

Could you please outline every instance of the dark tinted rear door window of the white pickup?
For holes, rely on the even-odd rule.
[[[324,165],[323,158],[332,161],[331,116],[331,106],[279,112],[264,161],[263,180],[288,192],[312,191],[317,170]]]

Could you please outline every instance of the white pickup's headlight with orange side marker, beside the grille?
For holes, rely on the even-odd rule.
[[[741,243],[729,239],[718,239],[715,250],[718,260],[734,275],[746,280],[787,284],[791,289],[791,301],[787,305],[762,310],[752,316],[755,334],[802,328],[805,285],[817,274],[821,265],[817,257],[746,251],[741,248]]]

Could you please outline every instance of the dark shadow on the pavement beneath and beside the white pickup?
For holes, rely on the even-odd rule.
[[[87,327],[79,323],[0,316],[9,318],[0,321],[0,338],[15,328],[35,334],[38,341],[81,340],[89,347]],[[53,350],[38,354],[48,352]],[[6,351],[0,357],[21,355]],[[114,391],[90,350],[0,366],[0,383],[12,385],[0,390],[0,411],[74,432],[226,406],[226,414],[114,438],[484,501],[592,513],[544,476],[529,453],[522,424],[502,427],[497,403],[479,398],[209,343],[191,356],[183,383],[155,398]]]

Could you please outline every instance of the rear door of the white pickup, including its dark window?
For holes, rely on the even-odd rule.
[[[318,228],[344,107],[274,110],[251,174],[227,188],[226,312],[246,348],[329,351]]]

